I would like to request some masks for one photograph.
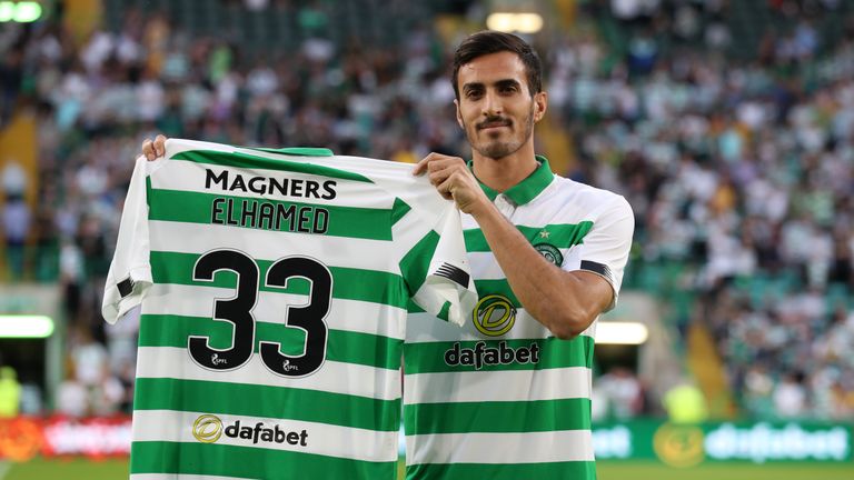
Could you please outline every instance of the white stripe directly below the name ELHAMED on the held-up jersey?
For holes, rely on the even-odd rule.
[[[330,220],[332,221],[332,220]],[[298,232],[249,230],[221,224],[149,221],[152,251],[201,254],[231,248],[256,260],[301,256],[322,259],[327,267],[400,273],[398,248],[391,241]],[[424,236],[428,229],[421,229]]]

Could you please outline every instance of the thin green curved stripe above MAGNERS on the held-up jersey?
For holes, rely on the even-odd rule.
[[[256,157],[239,152],[224,152],[216,150],[190,150],[182,151],[172,156],[172,160],[187,160],[195,163],[208,163],[222,167],[235,168],[255,168],[291,171],[298,173],[308,173],[314,176],[337,178],[342,180],[352,180],[358,182],[374,183],[365,176],[346,170],[339,170],[331,167],[324,167],[317,163],[302,163],[285,159],[269,159]]]

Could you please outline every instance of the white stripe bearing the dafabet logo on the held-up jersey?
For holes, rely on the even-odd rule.
[[[172,410],[136,410],[133,412],[133,441],[168,441],[197,443],[192,434],[193,422],[208,412],[180,412]],[[373,431],[358,428],[338,427],[326,423],[306,422],[296,420],[270,419],[262,417],[242,417],[217,414],[221,423],[221,434],[216,440],[217,444],[249,447],[267,450],[282,450],[301,453],[316,453],[336,458],[346,458],[365,461],[395,461],[397,460],[397,430],[390,432]],[[252,438],[245,439],[229,437],[229,426],[240,422],[240,429],[252,429]],[[264,441],[260,434],[256,442],[255,428],[258,423],[261,429],[275,429],[277,426],[284,432],[282,442]],[[211,432],[212,430],[208,430]],[[305,443],[302,446],[302,431]],[[259,430],[260,432],[260,430]],[[288,442],[287,434],[296,444]]]

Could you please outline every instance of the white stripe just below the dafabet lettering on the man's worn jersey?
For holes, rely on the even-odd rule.
[[[590,369],[586,367],[413,373],[404,381],[406,404],[590,398]]]

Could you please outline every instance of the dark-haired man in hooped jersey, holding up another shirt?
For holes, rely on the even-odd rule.
[[[426,313],[407,322],[407,478],[593,479],[593,334],[616,303],[632,209],[535,154],[547,94],[525,41],[468,37],[451,81],[471,161],[430,153],[414,173],[464,212],[479,302],[463,329]],[[161,154],[162,140],[143,153]]]

